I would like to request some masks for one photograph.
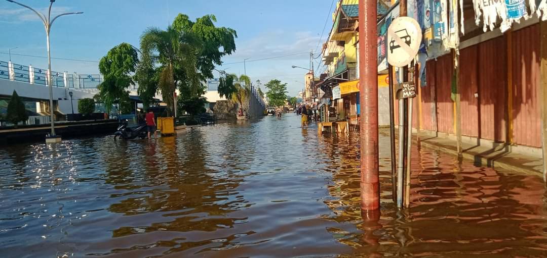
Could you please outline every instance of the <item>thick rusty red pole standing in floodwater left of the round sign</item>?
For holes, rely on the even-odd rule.
[[[359,0],[360,187],[364,212],[380,208],[377,37],[376,1]]]

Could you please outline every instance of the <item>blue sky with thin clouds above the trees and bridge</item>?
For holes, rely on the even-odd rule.
[[[19,0],[41,11],[48,0]],[[288,83],[289,95],[304,87],[305,70],[291,65],[309,67],[309,52],[315,50],[323,31],[325,19],[330,17],[333,0],[275,0],[275,1],[203,1],[203,0],[57,0],[53,13],[83,11],[81,15],[60,17],[51,30],[51,56],[85,61],[52,60],[54,71],[74,71],[79,74],[98,73],[97,62],[109,49],[122,42],[139,45],[139,36],[148,27],[165,28],[178,13],[192,20],[206,14],[217,16],[217,26],[236,29],[236,52],[224,57],[223,68],[228,73],[247,75],[253,81],[265,83],[279,79]],[[331,28],[329,20],[323,34],[324,42]],[[0,60],[46,68],[47,59],[16,56],[24,54],[46,56],[45,31],[38,17],[19,5],[0,0]],[[319,45],[321,47],[321,45]],[[300,55],[253,61],[254,59]],[[320,59],[315,60],[317,62]],[[264,88],[264,87],[263,87]]]

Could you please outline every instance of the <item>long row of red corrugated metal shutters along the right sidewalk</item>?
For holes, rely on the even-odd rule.
[[[462,135],[541,147],[539,42],[536,24],[460,50]],[[422,129],[455,134],[452,59],[449,54],[427,62],[427,85],[420,88],[418,114]]]

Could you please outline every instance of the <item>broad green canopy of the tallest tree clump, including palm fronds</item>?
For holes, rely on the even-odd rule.
[[[216,21],[214,15],[190,21],[187,15],[178,14],[165,31],[148,28],[142,34],[143,55],[137,67],[136,80],[143,101],[152,101],[159,90],[164,102],[172,109],[173,93],[178,88],[181,93],[179,100],[199,102],[197,99],[205,92],[201,82],[212,79],[215,65],[222,64],[221,58],[235,51],[235,30],[216,27]],[[230,83],[219,88],[230,97],[234,90]]]

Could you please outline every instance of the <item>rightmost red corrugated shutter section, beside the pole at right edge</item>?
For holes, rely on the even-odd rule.
[[[514,142],[541,147],[539,25],[514,32],[512,45]]]

